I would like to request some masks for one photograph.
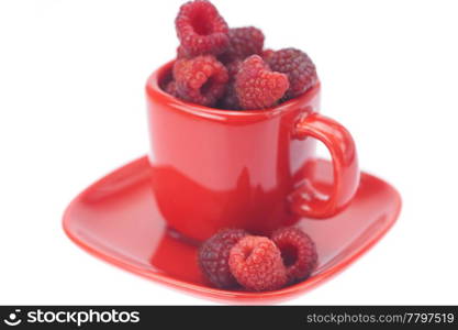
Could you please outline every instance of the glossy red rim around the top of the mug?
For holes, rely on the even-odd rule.
[[[174,61],[170,61],[159,68],[157,68],[153,74],[148,77],[146,81],[146,95],[148,97],[160,99],[161,102],[169,105],[171,108],[187,112],[189,114],[213,119],[213,120],[224,120],[224,121],[233,121],[233,120],[261,120],[266,118],[272,118],[280,114],[284,114],[286,112],[297,110],[299,107],[303,107],[308,105],[315,96],[320,92],[321,89],[321,81],[317,80],[316,84],[309,89],[303,95],[290,99],[277,107],[267,108],[267,109],[255,109],[255,110],[225,110],[225,109],[216,109],[210,108],[205,106],[200,106],[196,103],[191,103],[188,101],[180,100],[168,92],[166,92],[160,86],[159,81],[167,75]]]

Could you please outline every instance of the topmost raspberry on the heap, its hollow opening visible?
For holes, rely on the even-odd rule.
[[[181,6],[175,26],[189,56],[217,55],[227,50],[227,23],[209,1],[196,0]]]

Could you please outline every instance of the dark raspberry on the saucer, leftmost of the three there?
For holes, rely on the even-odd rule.
[[[199,266],[205,277],[215,286],[230,288],[237,285],[227,264],[232,246],[247,232],[242,229],[221,230],[199,249]]]

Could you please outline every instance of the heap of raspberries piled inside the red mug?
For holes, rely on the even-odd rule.
[[[230,29],[206,0],[181,6],[175,25],[180,45],[172,77],[161,87],[185,101],[226,110],[266,109],[317,81],[305,53],[264,50],[259,29]]]

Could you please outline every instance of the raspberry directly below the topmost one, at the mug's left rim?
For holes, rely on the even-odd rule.
[[[178,59],[174,77],[181,99],[206,107],[224,95],[228,80],[227,69],[211,55]]]

